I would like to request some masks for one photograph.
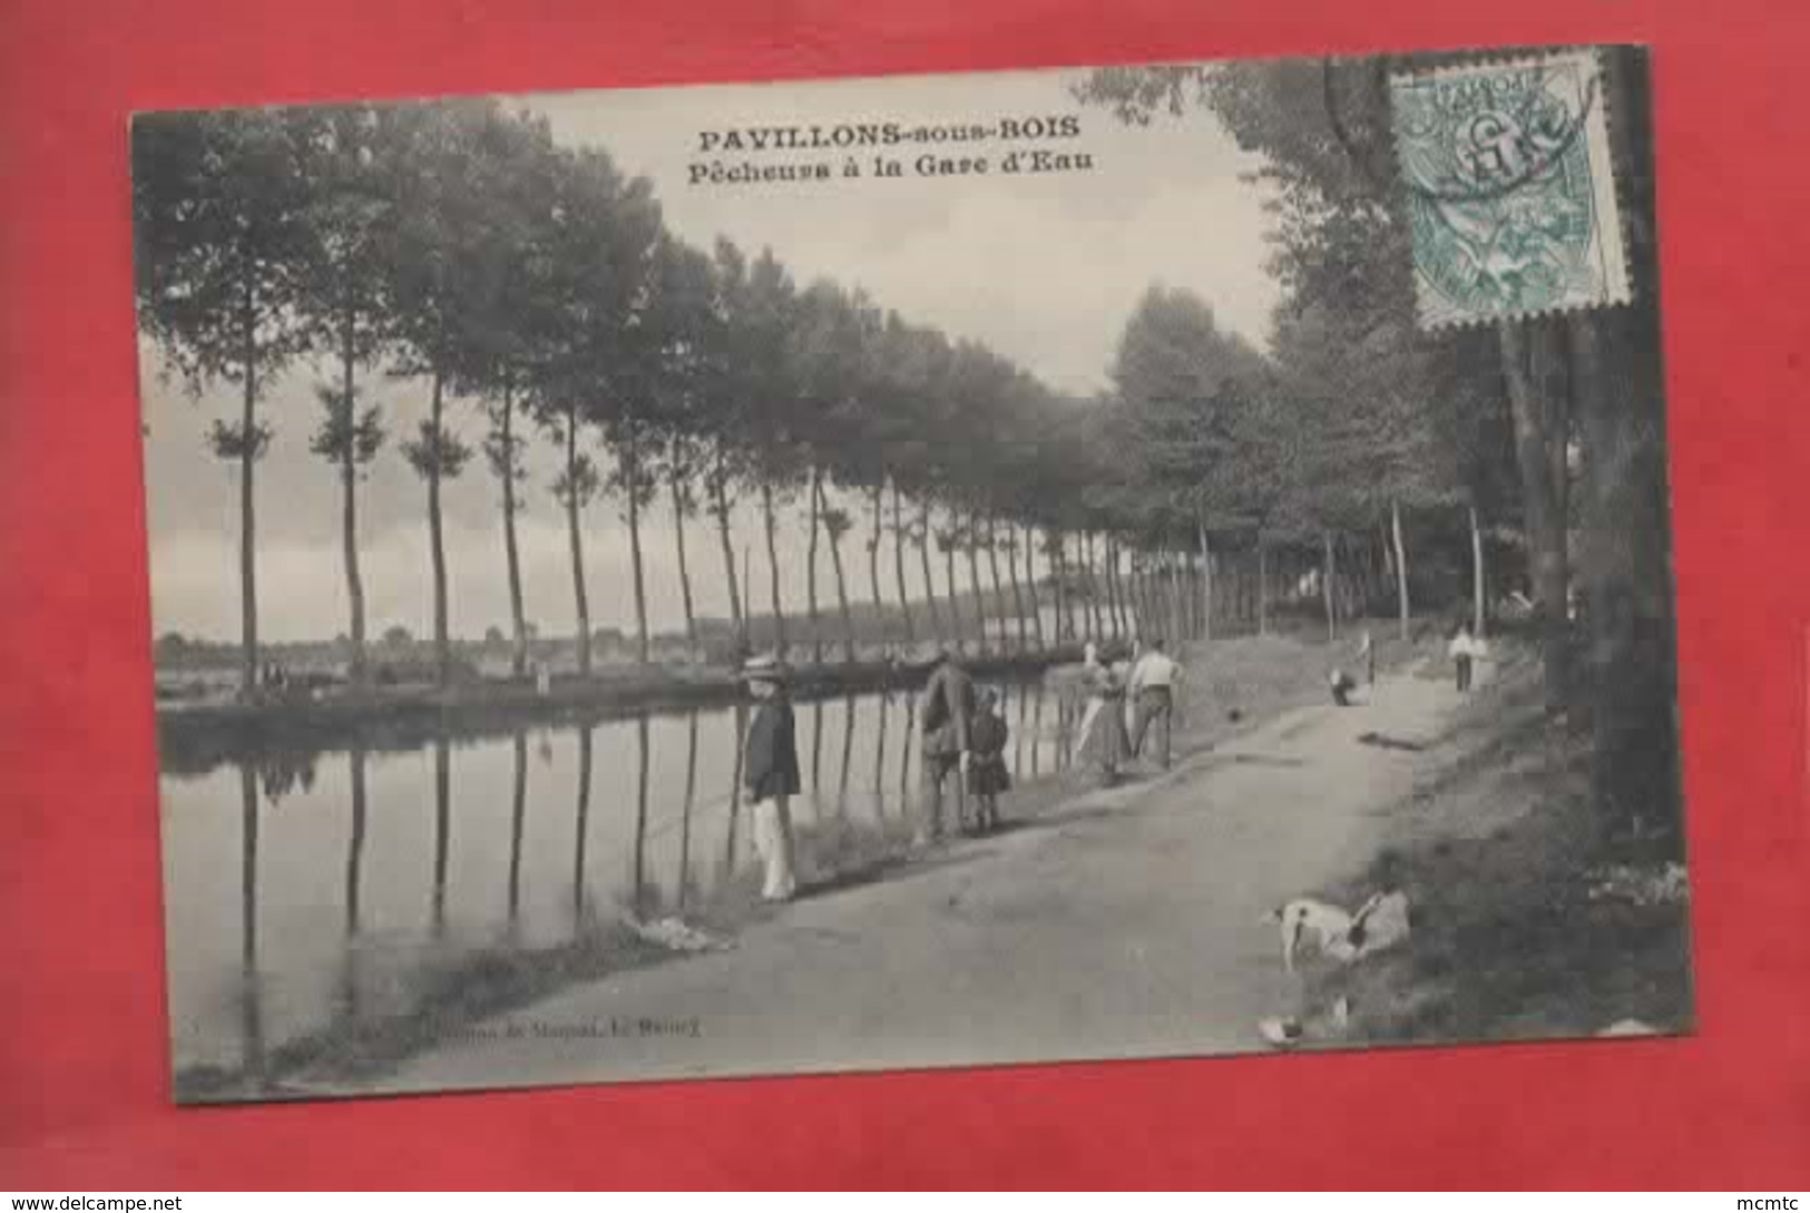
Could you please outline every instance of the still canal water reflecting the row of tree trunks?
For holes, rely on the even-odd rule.
[[[1066,768],[1077,715],[1068,699],[1043,681],[1003,692],[1015,778]],[[916,697],[872,692],[795,712],[802,845],[849,829],[907,833]],[[462,961],[708,903],[757,864],[737,788],[744,713],[653,713],[167,775],[177,1074],[262,1072],[272,1050],[346,1016],[407,1016]]]

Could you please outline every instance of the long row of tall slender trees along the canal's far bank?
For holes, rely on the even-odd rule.
[[[662,224],[644,177],[624,176],[603,150],[557,145],[543,119],[481,100],[157,114],[134,123],[132,150],[141,330],[192,393],[230,386],[239,396],[239,416],[215,422],[210,444],[237,467],[246,688],[259,668],[257,465],[277,435],[264,406],[295,373],[319,380],[310,449],[340,489],[355,683],[367,677],[358,487],[391,440],[369,402],[373,380],[400,380],[427,400],[427,418],[396,445],[424,483],[442,679],[451,643],[440,500],[480,451],[498,485],[514,666],[527,664],[516,530],[532,489],[523,451],[536,438],[557,453],[548,487],[570,536],[581,672],[592,637],[586,509],[599,494],[626,525],[643,659],[650,509],[673,516],[693,637],[688,521],[704,516],[715,530],[744,645],[758,590],[738,576],[731,516],[744,500],[758,509],[766,606],[784,650],[776,530],[784,509],[802,507],[805,608],[814,625],[822,543],[849,659],[843,540],[856,530],[876,606],[891,538],[907,645],[988,646],[985,619],[959,608],[957,558],[970,601],[985,603],[985,556],[992,641],[1010,619],[1021,646],[1128,634],[1133,594],[1122,581],[1158,567],[1178,579],[1148,511],[1095,491],[1111,460],[1090,402],[858,290],[800,286],[767,250],[686,244]],[[941,601],[932,543],[948,587]],[[916,610],[907,550],[927,590]],[[1039,590],[1055,597],[1053,637],[1043,634]],[[822,630],[811,635],[820,659]]]

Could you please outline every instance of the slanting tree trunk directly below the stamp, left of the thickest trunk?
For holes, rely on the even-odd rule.
[[[1522,514],[1533,554],[1533,590],[1540,610],[1546,706],[1557,713],[1567,704],[1571,683],[1567,617],[1571,568],[1564,482],[1566,402],[1560,395],[1567,384],[1553,324],[1546,319],[1504,320],[1499,331],[1510,413],[1515,422]],[[1553,474],[1555,462],[1558,476]]]

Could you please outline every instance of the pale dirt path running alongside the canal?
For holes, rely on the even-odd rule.
[[[1260,916],[1370,856],[1455,704],[1444,681],[1397,675],[1367,706],[1287,712],[1167,775],[804,898],[731,950],[476,1025],[360,1088],[1260,1050],[1256,1019],[1294,998]]]

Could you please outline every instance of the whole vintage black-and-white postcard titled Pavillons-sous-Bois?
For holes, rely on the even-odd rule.
[[[176,1099],[1691,1032],[1651,91],[138,114]]]

